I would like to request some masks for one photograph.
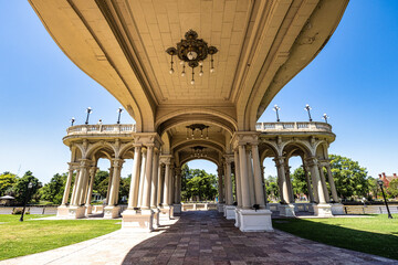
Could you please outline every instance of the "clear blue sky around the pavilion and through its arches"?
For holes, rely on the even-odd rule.
[[[42,182],[67,170],[62,144],[71,117],[83,124],[117,119],[118,102],[57,47],[27,0],[0,1],[0,172],[31,170]],[[349,157],[370,176],[398,173],[398,1],[352,0],[318,56],[274,98],[259,121],[314,120],[324,113],[337,135],[329,152]],[[134,123],[126,113],[122,123]],[[298,159],[292,161],[293,168]],[[265,174],[275,174],[265,160]],[[101,169],[108,167],[101,161]],[[210,162],[191,168],[216,173]],[[123,174],[132,171],[132,161]]]

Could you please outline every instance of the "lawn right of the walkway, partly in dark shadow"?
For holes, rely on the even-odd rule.
[[[312,241],[398,259],[398,214],[392,216],[276,219],[273,225]]]

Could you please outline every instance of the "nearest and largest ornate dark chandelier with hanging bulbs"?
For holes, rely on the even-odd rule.
[[[171,56],[170,61],[170,71],[169,73],[172,74],[174,67],[174,61],[172,56],[177,55],[178,59],[181,61],[180,64],[182,65],[182,72],[181,76],[185,76],[186,72],[186,64],[188,64],[189,67],[192,68],[192,80],[191,84],[195,84],[195,67],[200,66],[199,76],[203,75],[203,60],[207,59],[208,54],[210,54],[210,73],[214,72],[213,66],[213,55],[218,52],[217,47],[214,46],[208,46],[207,42],[205,42],[202,39],[198,39],[198,33],[193,30],[189,30],[185,34],[185,40],[181,40],[179,43],[177,43],[176,47],[169,47],[166,50],[166,52]]]

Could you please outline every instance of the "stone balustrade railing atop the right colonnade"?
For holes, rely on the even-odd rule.
[[[332,132],[332,126],[326,123],[300,121],[300,123],[258,123],[255,129],[262,132],[282,131],[325,131]]]

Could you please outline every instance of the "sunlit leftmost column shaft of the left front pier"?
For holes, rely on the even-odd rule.
[[[130,188],[128,192],[128,210],[133,210],[138,206],[138,188],[139,188],[139,168],[142,160],[142,146],[136,145],[134,147],[134,163],[133,174],[130,181]]]

